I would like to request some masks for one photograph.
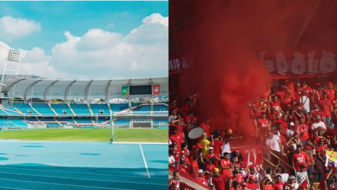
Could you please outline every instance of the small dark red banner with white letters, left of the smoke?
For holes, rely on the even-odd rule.
[[[168,57],[168,73],[180,73],[182,69],[188,69],[193,65],[193,55],[181,54]]]

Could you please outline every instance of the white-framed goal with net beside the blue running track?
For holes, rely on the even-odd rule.
[[[110,117],[111,142],[168,143],[168,112],[115,112]]]

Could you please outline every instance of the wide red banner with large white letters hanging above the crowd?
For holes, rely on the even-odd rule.
[[[257,51],[272,78],[303,78],[336,72],[337,47],[300,47]]]

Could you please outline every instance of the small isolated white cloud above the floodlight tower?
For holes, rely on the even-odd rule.
[[[11,16],[4,16],[0,18],[0,34],[5,38],[22,38],[32,32],[40,31],[40,29],[40,23],[35,21],[12,18]]]

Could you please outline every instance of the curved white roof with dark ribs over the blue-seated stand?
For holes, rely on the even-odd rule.
[[[111,79],[111,80],[55,80],[16,77],[3,80],[2,92],[22,99],[105,99],[122,97],[122,86],[160,85],[160,95],[168,94],[168,77]]]

